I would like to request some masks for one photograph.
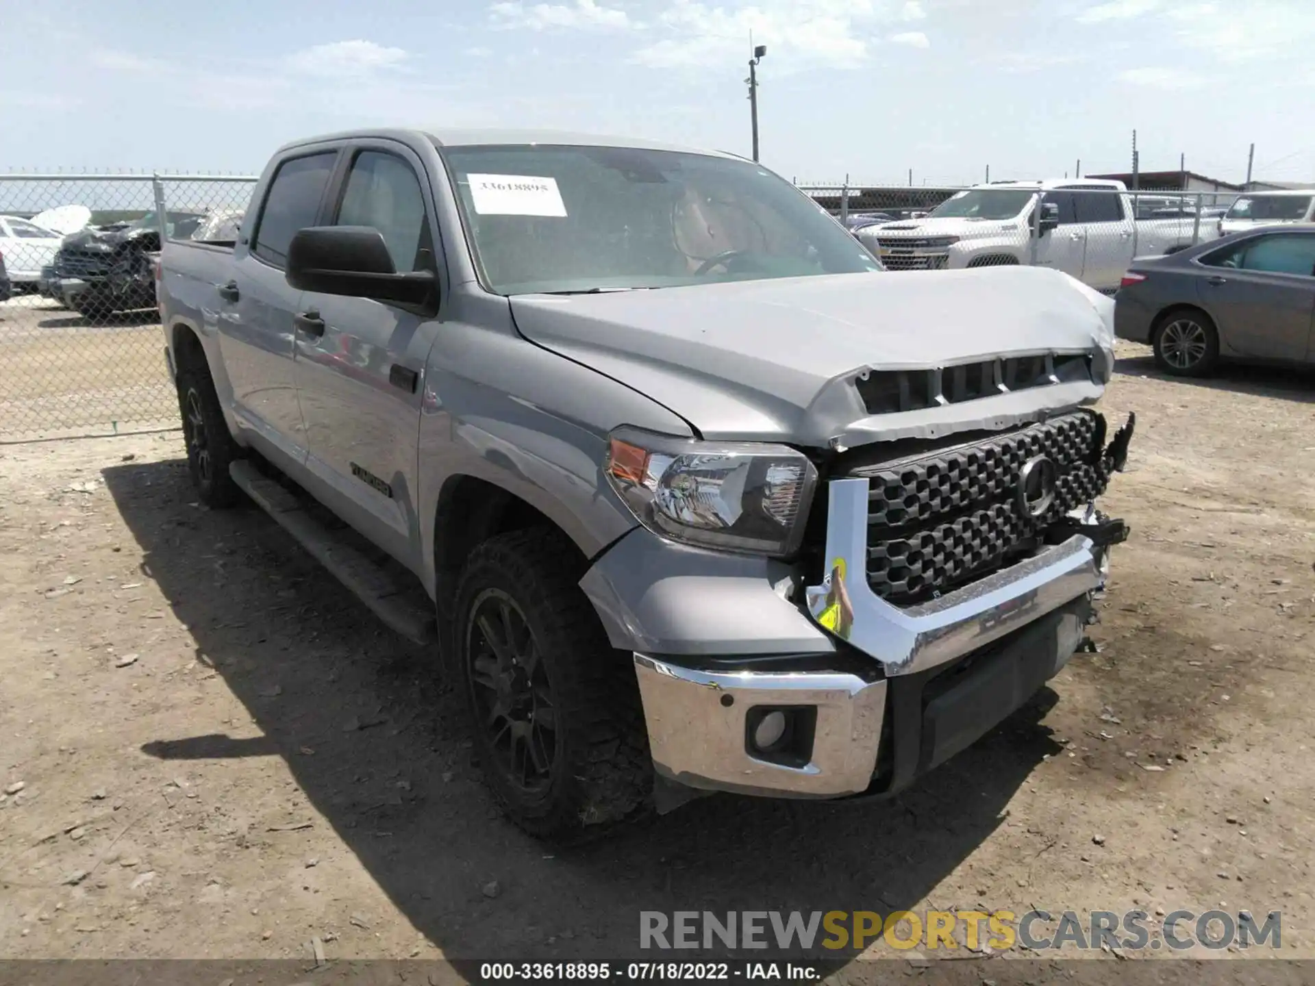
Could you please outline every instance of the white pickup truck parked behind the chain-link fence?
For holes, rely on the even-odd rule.
[[[965,188],[926,218],[865,226],[855,235],[893,271],[1032,264],[1098,291],[1116,289],[1134,255],[1172,254],[1219,235],[1214,222],[1190,212],[1135,216],[1122,181],[1007,181]]]

